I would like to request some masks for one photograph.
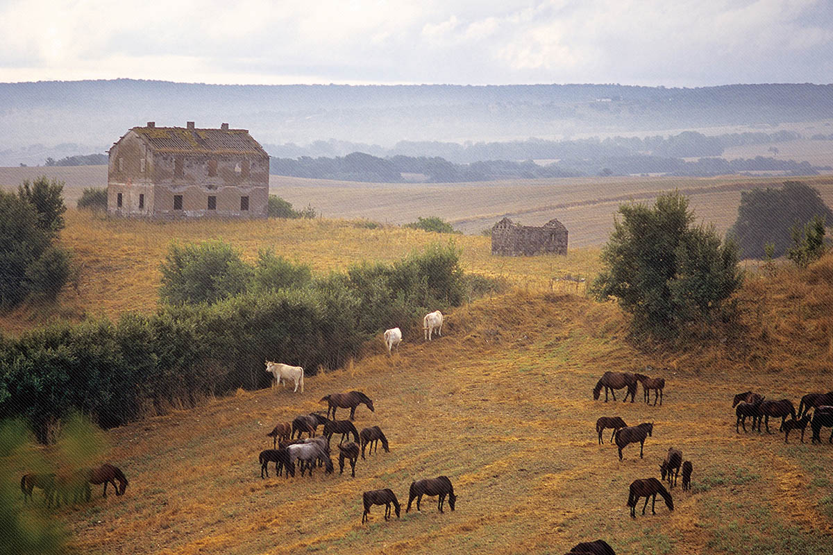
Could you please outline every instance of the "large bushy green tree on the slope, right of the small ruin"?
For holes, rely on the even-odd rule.
[[[692,227],[685,196],[667,193],[653,207],[621,205],[619,213],[593,290],[599,300],[616,297],[636,334],[667,339],[707,323],[740,287],[736,245],[713,226]]]

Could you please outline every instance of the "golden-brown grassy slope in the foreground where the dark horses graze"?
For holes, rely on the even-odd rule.
[[[107,432],[101,459],[125,469],[126,497],[94,488],[92,503],[58,514],[77,553],[564,553],[595,538],[624,554],[831,553],[831,447],[811,445],[809,430],[789,445],[736,434],[731,397],[752,389],[797,404],[830,389],[833,257],[752,276],[739,301],[725,342],[648,354],[623,340],[611,303],[522,290],[480,300],[453,312],[441,338],[406,334],[392,358],[379,341],[351,368],[311,376],[304,394],[241,391]],[[668,367],[661,407],[641,391],[634,404],[592,400],[603,371],[644,364]],[[350,389],[376,405],[357,410],[357,427],[381,426],[391,452],[360,459],[357,478],[262,480],[272,425]],[[614,414],[655,424],[644,459],[638,446],[620,462],[597,445],[596,418]],[[658,478],[670,446],[694,463],[691,493],[674,488],[673,513],[657,503],[656,516],[632,520],[628,484]],[[428,498],[406,514],[408,484],[438,474],[454,483],[456,511]],[[362,526],[362,492],[386,487],[402,518],[385,523],[374,507]]]

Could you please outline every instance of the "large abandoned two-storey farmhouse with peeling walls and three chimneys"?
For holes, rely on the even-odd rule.
[[[107,212],[157,219],[265,218],[269,155],[245,129],[133,127],[113,143]]]

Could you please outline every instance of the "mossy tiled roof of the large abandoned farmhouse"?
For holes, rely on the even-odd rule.
[[[148,148],[156,152],[269,156],[260,143],[249,135],[247,129],[229,129],[227,124],[223,124],[220,129],[197,128],[189,122],[187,127],[150,125],[133,127],[130,131],[142,137]]]

